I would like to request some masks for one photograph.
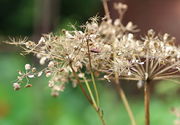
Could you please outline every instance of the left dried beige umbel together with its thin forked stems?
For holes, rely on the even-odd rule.
[[[31,69],[28,69],[26,73],[22,73],[22,76],[20,76],[21,79],[39,77],[44,73],[46,77],[50,77],[49,87],[52,89],[51,95],[55,97],[59,95],[59,91],[55,86],[65,86],[66,83],[72,81],[74,87],[76,85],[80,86],[83,94],[98,113],[102,124],[105,125],[103,114],[99,107],[99,97],[94,72],[111,72],[114,70],[112,66],[114,67],[116,63],[116,71],[120,73],[119,66],[126,65],[127,61],[123,60],[123,62],[121,62],[120,59],[114,61],[114,46],[119,50],[119,42],[123,38],[126,39],[128,36],[132,36],[129,33],[136,32],[137,30],[135,28],[136,26],[132,23],[124,26],[121,23],[121,19],[113,21],[111,18],[104,18],[99,20],[97,17],[94,17],[82,26],[82,31],[76,29],[73,31],[63,30],[63,34],[60,36],[45,34],[37,43],[27,40],[19,42],[13,40],[10,44],[19,45],[27,54],[35,54],[37,58],[39,58],[41,65],[47,65],[45,69],[39,72],[32,72]],[[114,45],[114,43],[116,45]],[[83,69],[86,69],[85,73]],[[123,70],[124,67],[120,69]],[[89,80],[85,77],[78,77],[77,74],[82,72],[85,76],[91,75],[95,93],[92,93],[89,87]],[[111,76],[111,74],[107,76],[110,81],[109,76]],[[84,90],[79,79],[86,83],[86,87],[89,88],[88,92]],[[20,81],[18,82],[21,83]],[[94,94],[96,97],[94,97]]]

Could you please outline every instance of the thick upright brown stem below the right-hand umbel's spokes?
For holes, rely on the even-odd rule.
[[[146,81],[144,84],[145,125],[150,125],[149,103],[150,103],[150,85],[149,82]]]

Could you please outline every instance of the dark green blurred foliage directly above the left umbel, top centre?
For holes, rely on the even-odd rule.
[[[100,15],[101,0],[62,0],[59,29],[70,29],[71,25],[79,26],[96,14]]]

